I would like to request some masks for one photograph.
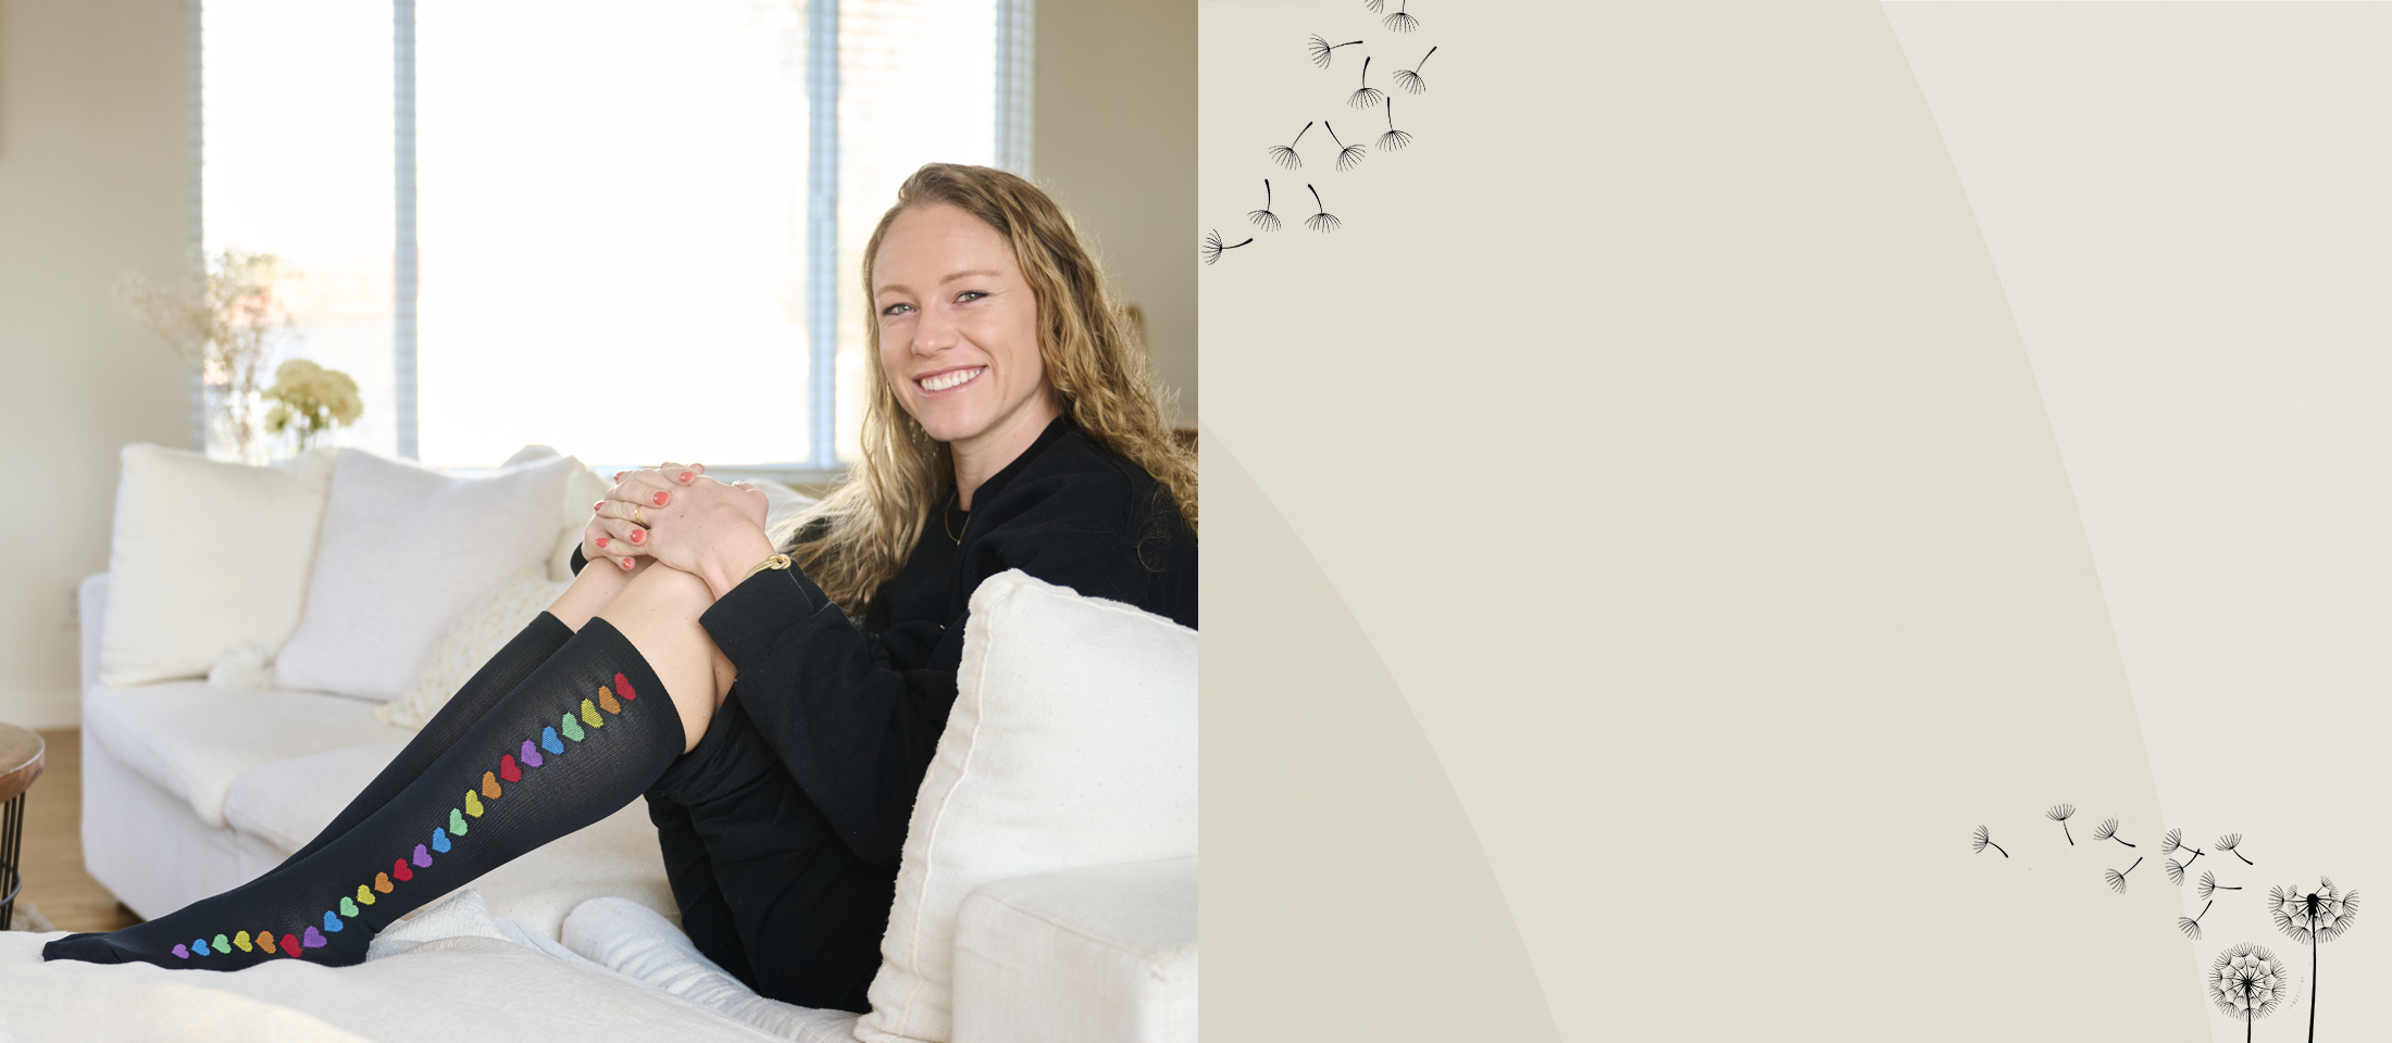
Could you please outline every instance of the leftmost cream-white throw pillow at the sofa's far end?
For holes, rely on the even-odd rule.
[[[108,548],[100,682],[203,677],[234,648],[299,629],[332,450],[285,466],[127,445]]]

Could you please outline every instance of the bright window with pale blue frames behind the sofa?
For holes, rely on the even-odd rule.
[[[210,0],[206,246],[292,261],[282,352],[359,380],[347,445],[830,469],[868,373],[864,239],[921,163],[1002,139],[1026,165],[1024,24],[1019,0]]]

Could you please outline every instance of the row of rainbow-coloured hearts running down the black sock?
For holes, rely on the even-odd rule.
[[[256,935],[239,931],[232,938],[194,938],[189,943],[175,943],[167,952],[172,952],[175,959],[220,957],[232,950],[263,954],[275,954],[280,950],[285,957],[299,957],[306,950],[332,945],[325,935],[344,931],[344,921],[359,919],[364,914],[361,907],[373,904],[376,895],[390,895],[397,885],[414,880],[419,868],[431,868],[433,852],[452,852],[457,840],[471,832],[471,823],[466,818],[481,818],[488,813],[483,801],[505,797],[500,780],[507,780],[507,785],[521,782],[526,777],[524,768],[541,768],[550,756],[562,756],[567,739],[586,742],[588,730],[605,727],[608,715],[622,715],[624,703],[636,699],[639,694],[631,691],[631,679],[615,675],[612,687],[598,684],[593,699],[581,699],[579,706],[567,708],[557,718],[555,727],[541,727],[538,739],[524,739],[517,754],[500,754],[498,768],[481,773],[481,787],[464,792],[464,806],[450,809],[447,825],[433,825],[428,844],[414,844],[411,856],[392,859],[388,873],[373,873],[371,885],[356,885],[356,897],[342,895],[332,909],[325,909],[321,926],[309,923],[297,933],[285,931],[280,935],[273,931],[258,931]]]

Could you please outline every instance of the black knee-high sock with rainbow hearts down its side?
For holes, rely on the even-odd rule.
[[[710,694],[689,694],[706,699]],[[682,754],[648,660],[591,620],[354,828],[275,873],[43,959],[242,969],[354,964],[402,914],[622,809]]]

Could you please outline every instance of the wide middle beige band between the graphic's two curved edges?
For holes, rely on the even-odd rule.
[[[1414,14],[1390,53],[1442,50],[1399,96],[1411,148],[1280,175],[1263,148],[1351,120],[1356,69],[1304,65],[1304,36],[1385,33],[1361,5],[1203,5],[1198,232],[1261,237],[1201,270],[1206,428],[1411,703],[1560,1038],[2203,1031],[2158,864],[2112,895],[2126,852],[2040,816],[2153,832],[2158,797],[2028,359],[1883,12]],[[1263,177],[1275,234],[1239,227]],[[1344,227],[1301,230],[1280,177]],[[1306,634],[1249,624],[1273,586],[1237,548],[1213,517],[1208,655],[1294,670]],[[1208,789],[1292,727],[1213,663]],[[1969,852],[1978,823],[2009,859]],[[1208,1031],[1361,1007],[1304,969],[1402,952],[1246,914],[1349,883],[1234,849],[1208,837],[1208,947],[1285,943],[1208,981]]]

